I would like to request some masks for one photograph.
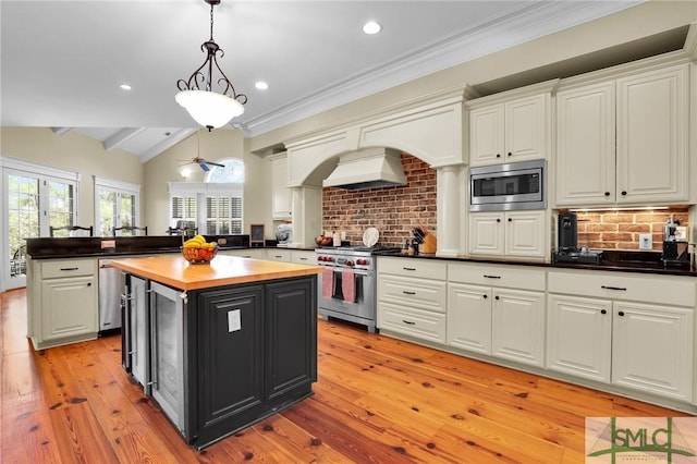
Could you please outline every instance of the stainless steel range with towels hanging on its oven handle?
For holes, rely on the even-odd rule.
[[[375,333],[376,247],[316,248],[317,264],[327,269],[319,276],[318,312],[362,323]],[[383,248],[381,248],[383,249]]]

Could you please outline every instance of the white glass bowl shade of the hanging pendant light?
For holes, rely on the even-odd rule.
[[[222,127],[244,113],[244,106],[240,101],[215,91],[182,90],[174,99],[204,127]]]

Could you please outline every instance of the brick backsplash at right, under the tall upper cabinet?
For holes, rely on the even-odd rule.
[[[639,249],[639,234],[650,233],[653,249],[661,251],[663,228],[671,215],[674,221],[680,221],[681,225],[689,225],[687,207],[657,210],[577,211],[578,246],[636,251]]]

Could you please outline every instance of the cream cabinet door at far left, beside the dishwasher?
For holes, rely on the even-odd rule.
[[[46,279],[41,282],[42,340],[98,331],[94,276]]]

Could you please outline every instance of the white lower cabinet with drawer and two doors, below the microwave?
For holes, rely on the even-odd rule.
[[[449,345],[545,365],[545,271],[449,265],[448,280]]]

